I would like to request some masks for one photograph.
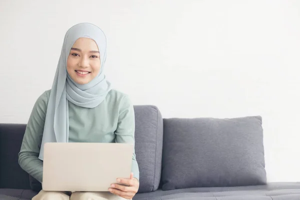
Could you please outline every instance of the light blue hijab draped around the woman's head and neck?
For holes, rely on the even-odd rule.
[[[93,39],[99,49],[101,68],[99,74],[87,84],[75,83],[66,71],[66,61],[71,47],[80,37]],[[84,108],[98,106],[111,90],[103,67],[106,59],[106,37],[91,23],[79,23],[66,32],[52,84],[41,140],[39,159],[43,160],[43,146],[47,142],[68,142],[68,101]]]

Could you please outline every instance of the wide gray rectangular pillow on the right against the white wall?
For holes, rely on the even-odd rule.
[[[266,184],[262,119],[163,119],[162,190]]]

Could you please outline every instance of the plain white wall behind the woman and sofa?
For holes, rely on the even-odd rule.
[[[263,119],[268,182],[300,181],[300,1],[0,0],[0,123],[26,123],[66,30],[107,36],[107,79],[164,118]]]

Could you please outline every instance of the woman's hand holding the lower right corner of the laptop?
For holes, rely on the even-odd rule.
[[[109,192],[127,200],[131,200],[138,191],[139,183],[137,179],[133,178],[133,173],[130,174],[130,179],[117,179],[117,183],[126,186],[111,184]]]

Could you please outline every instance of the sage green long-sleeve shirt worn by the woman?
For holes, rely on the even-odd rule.
[[[24,133],[18,162],[20,167],[42,182],[42,161],[38,159],[50,90],[36,100]],[[69,102],[69,142],[134,144],[134,111],[128,96],[111,90],[95,108],[83,108]],[[121,154],[121,152],[120,152]],[[132,155],[133,177],[139,169]]]

